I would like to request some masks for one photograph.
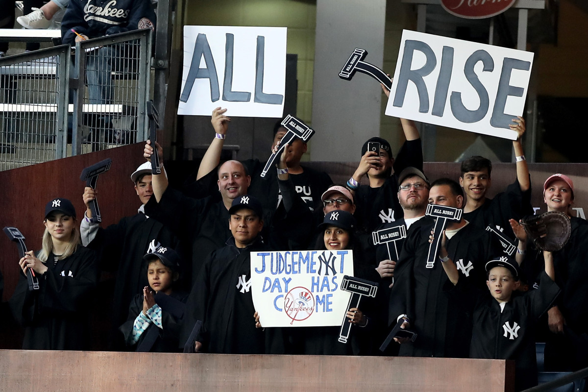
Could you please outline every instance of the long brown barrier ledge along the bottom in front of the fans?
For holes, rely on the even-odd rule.
[[[4,391],[513,391],[505,360],[0,350]]]

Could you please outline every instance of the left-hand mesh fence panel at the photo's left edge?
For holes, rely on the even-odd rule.
[[[66,156],[69,53],[61,45],[0,59],[0,170]]]

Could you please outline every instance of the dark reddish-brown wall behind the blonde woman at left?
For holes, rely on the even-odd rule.
[[[131,173],[145,162],[144,144],[136,143],[0,172],[0,229],[18,227],[26,237],[29,250],[41,249],[45,204],[52,197],[65,197],[74,203],[78,222],[83,219],[86,211],[82,201],[85,182],[79,176],[84,167],[106,158],[112,159],[111,169],[98,178],[96,185],[103,227],[118,222],[123,216],[135,214],[141,202],[133,189]],[[4,233],[0,234],[0,249],[0,270],[5,282],[4,301],[7,301],[18,282],[18,250]]]

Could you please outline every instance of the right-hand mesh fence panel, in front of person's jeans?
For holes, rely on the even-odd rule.
[[[74,140],[76,152],[145,140],[151,31],[140,30],[76,45]],[[84,81],[85,83],[81,83]]]

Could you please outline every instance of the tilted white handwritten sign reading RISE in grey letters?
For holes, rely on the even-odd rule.
[[[386,115],[517,138],[533,53],[405,30]]]

